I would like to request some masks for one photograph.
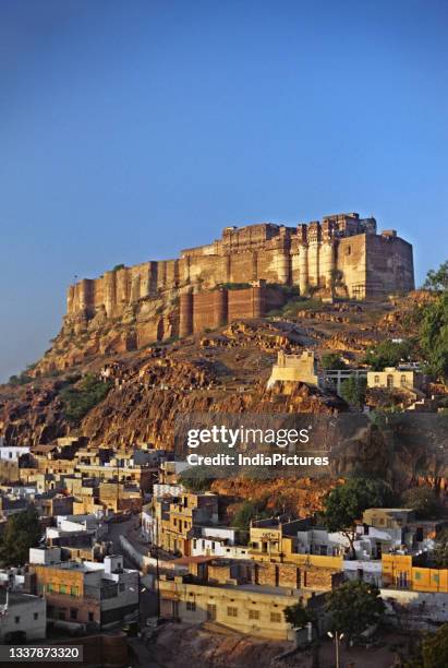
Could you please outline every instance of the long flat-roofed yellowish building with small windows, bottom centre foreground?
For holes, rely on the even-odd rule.
[[[162,575],[161,612],[186,623],[217,622],[240,633],[271,640],[293,640],[284,609],[301,601],[320,610],[324,592],[337,580],[314,588],[306,574],[290,564],[255,564],[249,561],[191,557],[189,574]]]

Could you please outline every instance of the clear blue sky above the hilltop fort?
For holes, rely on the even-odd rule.
[[[0,380],[76,274],[375,215],[448,258],[446,0],[1,0]]]

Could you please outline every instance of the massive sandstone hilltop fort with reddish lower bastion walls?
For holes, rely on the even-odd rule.
[[[356,213],[295,227],[226,227],[220,239],[175,260],[118,266],[70,286],[65,325],[77,323],[80,331],[94,319],[134,318],[140,347],[264,315],[281,306],[274,286],[361,300],[407,293],[414,287],[412,246],[395,230],[377,234],[375,218]],[[157,300],[154,312],[149,305]]]

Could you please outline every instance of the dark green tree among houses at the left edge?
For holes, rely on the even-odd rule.
[[[29,548],[36,547],[41,536],[35,508],[11,515],[0,541],[2,566],[22,565],[28,561]]]

